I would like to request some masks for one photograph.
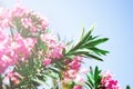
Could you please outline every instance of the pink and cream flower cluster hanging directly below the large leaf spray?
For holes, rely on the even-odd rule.
[[[71,86],[73,89],[82,89],[82,86],[84,83],[84,79],[80,76],[81,71],[81,62],[82,57],[74,57],[73,60],[68,60],[68,68],[65,71],[63,71],[63,80],[62,83],[64,86],[72,82]],[[74,83],[74,86],[73,86]]]

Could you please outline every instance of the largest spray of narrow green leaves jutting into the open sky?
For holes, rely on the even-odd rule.
[[[73,47],[69,51],[64,52],[64,56],[65,57],[82,56],[85,58],[92,58],[95,60],[103,61],[103,59],[100,58],[100,56],[102,55],[105,56],[106,53],[109,53],[109,51],[99,49],[96,46],[108,41],[109,39],[108,38],[99,39],[99,36],[93,37],[92,36],[93,29],[94,27],[92,27],[89,32],[84,33],[84,28],[83,28],[83,32],[80,41],[76,44],[73,44]]]

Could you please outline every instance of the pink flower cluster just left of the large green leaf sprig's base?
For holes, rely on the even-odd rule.
[[[41,34],[41,39],[47,46],[47,53],[44,56],[43,66],[48,66],[55,60],[60,60],[63,57],[63,49],[65,46],[62,42],[55,41],[55,36],[52,33]]]

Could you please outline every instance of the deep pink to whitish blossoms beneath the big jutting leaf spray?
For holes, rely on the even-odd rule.
[[[65,61],[69,66],[69,69],[63,72],[63,76],[64,76],[63,81],[65,83],[66,83],[66,81],[74,81],[78,85],[79,83],[80,85],[84,83],[83,78],[79,75],[80,73],[80,67],[81,67],[81,60],[82,60],[82,57],[74,57],[73,60],[69,60],[69,62]],[[75,89],[76,89],[76,87],[75,87]]]

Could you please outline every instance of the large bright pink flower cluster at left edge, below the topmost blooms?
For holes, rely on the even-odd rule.
[[[9,66],[13,66],[18,61],[24,61],[35,43],[32,38],[23,39],[18,33],[11,38],[3,32],[0,31],[0,73],[4,72]]]

